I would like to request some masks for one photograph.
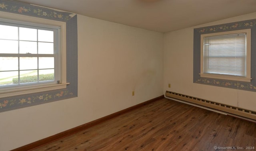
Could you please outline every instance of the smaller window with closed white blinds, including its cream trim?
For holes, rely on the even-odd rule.
[[[200,76],[250,82],[250,29],[201,35]]]

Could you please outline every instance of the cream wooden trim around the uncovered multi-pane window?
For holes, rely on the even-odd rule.
[[[58,90],[62,88],[66,88],[66,85],[69,84],[66,82],[66,22],[60,22],[56,20],[48,20],[43,18],[36,18],[31,16],[24,16],[20,14],[13,14],[8,12],[1,12],[0,18],[8,19],[8,20],[18,20],[22,22],[31,22],[36,24],[46,24],[46,25],[54,25],[60,26],[61,32],[60,37],[58,37],[60,42],[60,83],[59,84],[50,84],[44,86],[32,86],[27,88],[17,88],[13,90],[1,90],[0,98],[9,97],[9,96],[17,96],[23,94],[30,94],[36,92],[44,92],[50,90]]]

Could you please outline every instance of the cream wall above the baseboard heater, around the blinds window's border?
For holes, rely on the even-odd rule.
[[[164,34],[166,90],[256,111],[256,92],[193,83],[194,28],[255,19],[256,13],[228,18]],[[168,88],[168,83],[171,88]]]

